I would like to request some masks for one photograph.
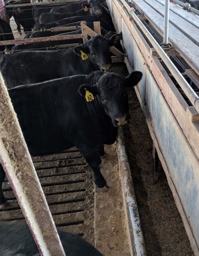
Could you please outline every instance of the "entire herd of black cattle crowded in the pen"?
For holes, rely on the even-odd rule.
[[[78,39],[73,41],[78,46],[54,51],[43,49],[53,42],[0,48],[1,73],[31,156],[55,154],[76,146],[92,168],[98,188],[108,187],[100,171],[101,157],[106,156],[104,144],[113,144],[118,127],[128,123],[127,87],[137,85],[142,78],[139,71],[127,77],[112,72],[109,48],[119,45],[121,34],[114,32],[103,4],[103,0],[90,0],[12,8],[18,31],[23,26],[25,38],[58,34],[37,31],[52,26],[76,26],[69,33],[81,33],[82,21],[91,29],[94,21],[100,21],[102,35],[86,43]],[[4,20],[0,20],[0,32],[1,41],[14,39]],[[10,53],[4,54],[4,49]],[[2,191],[4,178],[0,165],[2,206],[7,203]],[[101,255],[82,238],[58,232],[66,255]],[[39,255],[26,224],[0,222],[0,255]]]

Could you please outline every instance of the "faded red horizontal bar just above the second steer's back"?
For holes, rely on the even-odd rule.
[[[82,38],[82,34],[78,35],[54,35],[54,36],[45,36],[45,37],[36,37],[36,38],[27,38],[27,39],[15,39],[15,40],[7,40],[0,41],[0,45],[10,45],[10,44],[22,44],[22,43],[39,43],[39,42],[47,42],[47,41],[58,41],[58,40],[66,40],[66,39],[78,39]]]

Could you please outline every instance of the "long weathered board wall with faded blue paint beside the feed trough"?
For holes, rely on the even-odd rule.
[[[108,0],[107,2],[117,28],[121,28],[120,31],[123,32],[123,44],[127,50],[129,66],[143,73],[136,92],[141,105],[145,108],[144,114],[150,132],[154,135],[152,139],[158,145],[158,155],[160,153],[162,155],[160,160],[191,246],[195,254],[198,255],[199,160],[188,141],[192,137],[188,130],[190,127],[193,128],[193,123],[186,117],[186,108],[183,108],[186,103],[177,93],[176,87],[172,84],[157,57],[150,55],[150,47],[135,24],[128,19],[121,4],[117,0]],[[179,126],[179,122],[184,122],[183,128]],[[197,126],[199,126],[198,121],[195,122],[195,128]],[[187,129],[187,127],[189,128]],[[183,132],[186,132],[187,136]],[[196,136],[198,137],[198,130]],[[197,145],[199,144],[197,143]],[[197,151],[198,146],[195,148],[195,152]]]

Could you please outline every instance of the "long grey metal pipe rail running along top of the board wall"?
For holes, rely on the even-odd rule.
[[[164,61],[165,65],[168,67],[178,84],[180,85],[181,89],[186,94],[187,98],[190,100],[191,104],[193,104],[193,107],[197,114],[199,114],[199,97],[195,93],[195,91],[191,88],[189,83],[185,80],[185,78],[181,75],[177,67],[172,63],[168,55],[165,53],[165,51],[160,47],[158,42],[154,39],[154,37],[150,34],[150,32],[146,29],[146,27],[142,24],[141,20],[137,17],[135,14],[135,9],[131,8],[125,0],[121,0],[121,2],[124,4],[124,6],[127,8],[129,14],[133,17],[137,25],[140,27],[142,32],[144,32],[147,39],[150,41],[150,43],[153,45],[154,49]],[[136,2],[133,2],[136,5]]]

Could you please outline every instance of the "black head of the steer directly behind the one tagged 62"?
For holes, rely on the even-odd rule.
[[[83,45],[74,47],[73,51],[80,56],[82,52],[86,53],[96,70],[111,72],[111,52],[109,47],[117,45],[120,38],[120,34],[112,35],[108,39],[101,35],[96,35]]]

